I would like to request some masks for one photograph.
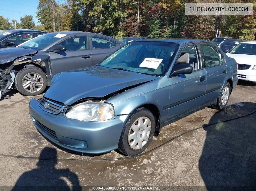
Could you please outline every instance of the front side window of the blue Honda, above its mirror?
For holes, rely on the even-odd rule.
[[[193,70],[199,69],[199,62],[198,62],[198,54],[197,49],[195,45],[192,46],[186,46],[182,49],[180,58],[186,57],[186,64],[189,64],[192,66]],[[179,64],[179,63],[178,63]]]

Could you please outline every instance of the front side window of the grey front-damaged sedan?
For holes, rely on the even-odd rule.
[[[87,49],[87,37],[71,37],[67,40],[62,41],[61,43],[58,43],[58,45],[65,46],[67,50],[85,50]]]

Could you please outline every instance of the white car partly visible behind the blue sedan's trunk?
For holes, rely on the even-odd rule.
[[[238,79],[256,83],[256,41],[241,42],[228,53],[238,65]]]

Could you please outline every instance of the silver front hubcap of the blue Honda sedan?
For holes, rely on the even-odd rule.
[[[129,130],[128,143],[130,147],[135,150],[142,148],[148,142],[150,130],[151,121],[148,117],[142,116],[136,119]]]

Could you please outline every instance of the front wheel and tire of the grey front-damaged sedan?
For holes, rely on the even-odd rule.
[[[38,77],[38,75],[40,77]],[[36,79],[37,77],[38,79]],[[30,79],[31,83],[28,79]],[[43,91],[45,91],[45,88],[47,86],[47,78],[45,73],[40,68],[24,68],[15,76],[14,83],[15,87],[21,94],[25,96],[35,96],[42,94]],[[26,86],[23,87],[22,83],[26,86],[29,86],[27,88]]]

